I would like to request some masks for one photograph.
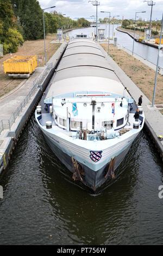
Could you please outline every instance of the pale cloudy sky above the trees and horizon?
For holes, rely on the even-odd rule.
[[[84,17],[89,18],[96,15],[96,6],[88,0],[38,0],[42,9],[52,7],[58,13],[66,14],[71,19]],[[152,20],[161,20],[163,13],[163,0],[155,0],[153,6]],[[120,15],[119,19],[134,19],[136,11],[146,11],[146,13],[137,14],[142,20],[150,20],[151,6],[143,0],[101,0],[98,5],[98,18],[109,16],[109,13],[100,13],[100,11],[110,11],[111,16]],[[93,18],[94,19],[94,18]]]

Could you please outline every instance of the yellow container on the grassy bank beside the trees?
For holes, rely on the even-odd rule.
[[[3,62],[4,72],[14,77],[29,77],[37,67],[37,56],[13,56]]]

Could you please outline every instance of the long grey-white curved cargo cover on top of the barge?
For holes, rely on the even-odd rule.
[[[85,51],[87,53],[83,53]],[[46,99],[53,95],[81,91],[123,95],[123,90],[123,85],[96,43],[88,39],[77,39],[68,44]]]

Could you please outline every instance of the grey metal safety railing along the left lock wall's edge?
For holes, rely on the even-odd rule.
[[[15,111],[11,114],[11,117],[9,119],[2,119],[0,120],[0,134],[3,130],[9,129],[11,130],[12,124],[15,123],[16,118],[20,115],[22,112],[22,109],[27,105],[27,103],[30,100],[30,97],[34,95],[36,92],[36,89],[39,88],[39,85],[42,83],[43,79],[46,77],[48,72],[53,68],[53,63],[50,63],[47,65],[47,68],[42,72],[39,78],[36,78],[33,81],[33,87],[30,89],[29,93],[24,97],[23,101],[18,105],[18,107],[15,109]]]

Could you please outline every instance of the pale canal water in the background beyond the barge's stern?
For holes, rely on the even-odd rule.
[[[110,38],[112,38],[112,29],[114,29],[115,37],[117,38],[117,44],[127,48],[128,50],[133,50],[133,39],[126,33],[122,33],[116,30],[116,27],[119,27],[121,25],[110,25]],[[98,26],[98,29],[105,29],[105,36],[108,38],[109,36],[109,25],[100,25]],[[82,29],[74,29],[73,31],[68,32],[68,35],[71,37],[76,37],[77,34],[85,34],[88,36],[92,36],[96,34],[96,28],[90,27],[90,28],[82,28]],[[111,42],[111,41],[110,41]],[[147,46],[144,44],[140,44],[139,42],[134,42],[134,53],[141,56],[142,58],[147,59],[149,62],[152,62],[156,65],[157,58],[158,58],[158,49]],[[160,60],[159,60],[159,66],[163,68],[163,52],[161,53]]]

